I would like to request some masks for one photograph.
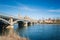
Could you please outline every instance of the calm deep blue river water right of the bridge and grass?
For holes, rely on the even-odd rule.
[[[37,24],[22,28],[14,25],[14,30],[29,40],[60,40],[60,24]]]

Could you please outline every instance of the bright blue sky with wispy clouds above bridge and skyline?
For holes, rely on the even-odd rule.
[[[60,18],[60,0],[0,0],[0,14],[34,19]]]

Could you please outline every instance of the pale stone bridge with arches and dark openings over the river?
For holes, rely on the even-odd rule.
[[[1,27],[7,27],[7,28],[13,28],[13,25],[15,23],[18,23],[19,27],[22,26],[30,26],[32,25],[34,22],[32,22],[31,20],[28,19],[18,19],[18,18],[13,18],[11,17],[0,17],[0,26]]]

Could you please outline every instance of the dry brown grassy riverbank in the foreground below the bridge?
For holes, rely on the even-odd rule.
[[[0,40],[28,40],[27,38],[22,38],[18,36],[13,30],[10,30],[8,35],[0,36]]]

